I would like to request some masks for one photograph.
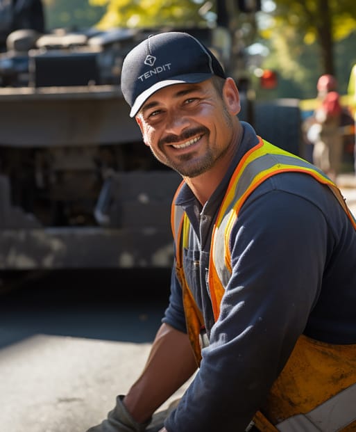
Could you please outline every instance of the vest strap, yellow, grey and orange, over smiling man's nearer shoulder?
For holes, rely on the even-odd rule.
[[[230,235],[239,211],[257,186],[273,175],[287,172],[311,175],[321,184],[328,186],[356,230],[355,218],[348,209],[341,191],[323,171],[259,137],[259,143],[246,153],[235,169],[214,225],[209,285],[210,291],[215,293],[212,295],[212,303],[216,318],[219,316],[219,303],[232,271]]]

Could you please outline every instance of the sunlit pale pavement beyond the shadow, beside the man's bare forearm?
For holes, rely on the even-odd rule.
[[[1,350],[0,430],[86,431],[138,377],[150,346],[35,335]]]

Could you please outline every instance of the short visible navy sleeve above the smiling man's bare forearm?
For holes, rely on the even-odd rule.
[[[167,323],[169,326],[187,333],[185,325],[185,314],[183,308],[182,288],[176,276],[175,265],[171,272],[171,294],[169,296],[169,305],[164,312],[162,323]]]

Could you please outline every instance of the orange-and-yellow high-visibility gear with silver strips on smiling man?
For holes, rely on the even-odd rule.
[[[321,170],[259,138],[259,143],[235,168],[212,231],[208,282],[215,321],[232,273],[229,239],[239,210],[264,180],[285,172],[312,175],[329,186],[356,230],[355,218],[341,192]],[[183,291],[187,332],[199,364],[204,322],[183,269],[183,249],[189,246],[190,223],[183,209],[175,205],[176,195],[171,211],[176,273]],[[301,335],[273,383],[265,406],[253,421],[260,431],[266,432],[356,432],[356,344],[327,344]]]

